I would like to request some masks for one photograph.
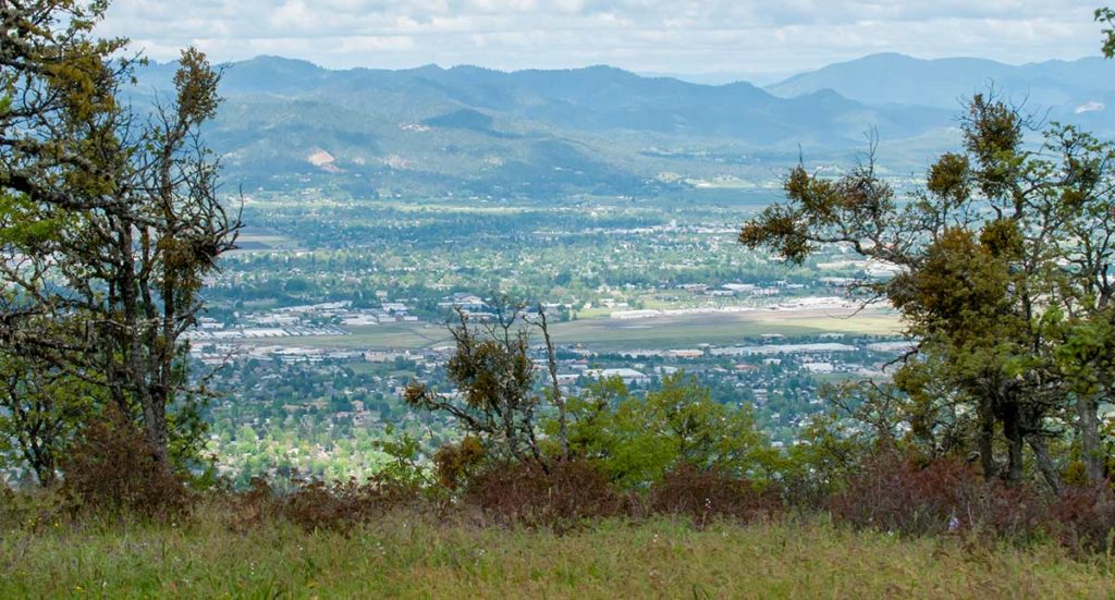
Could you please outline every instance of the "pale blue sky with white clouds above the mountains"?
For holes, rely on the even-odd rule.
[[[611,65],[773,79],[874,52],[1022,64],[1099,54],[1104,0],[113,0],[99,32],[329,68]],[[1115,3],[1113,1],[1112,3]]]

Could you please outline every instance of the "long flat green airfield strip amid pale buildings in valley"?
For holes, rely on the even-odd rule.
[[[420,349],[453,342],[444,326],[430,323],[391,323],[351,330],[351,336],[282,338],[280,343],[311,348]],[[837,332],[892,336],[899,330],[898,317],[891,313],[845,318],[818,311],[755,311],[631,320],[580,319],[555,323],[553,337],[563,345],[622,350],[685,348],[699,343],[726,346],[769,333],[787,338]],[[266,343],[275,343],[275,340]]]

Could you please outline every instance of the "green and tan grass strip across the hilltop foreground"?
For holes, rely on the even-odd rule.
[[[604,521],[564,535],[410,514],[346,534],[217,516],[0,541],[0,598],[1111,598],[1115,562],[824,521]]]

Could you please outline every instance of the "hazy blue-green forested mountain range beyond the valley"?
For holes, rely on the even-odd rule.
[[[138,74],[166,89],[174,65]],[[956,142],[960,99],[990,81],[1107,135],[1115,65],[1012,67],[876,55],[760,89],[610,67],[328,70],[260,57],[230,65],[206,136],[249,191],[370,195],[641,194],[769,182],[802,153],[846,162],[878,132],[896,173]],[[1113,105],[1115,106],[1115,105]]]

